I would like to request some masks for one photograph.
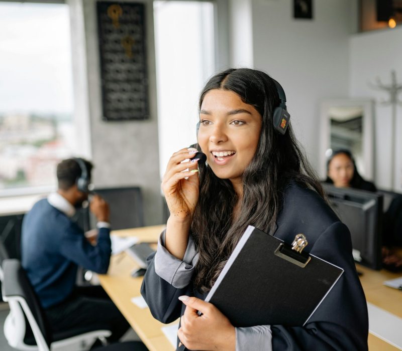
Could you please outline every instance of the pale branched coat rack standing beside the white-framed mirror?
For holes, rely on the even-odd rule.
[[[375,79],[376,84],[369,83],[369,85],[376,90],[383,90],[388,92],[389,100],[381,101],[383,105],[391,105],[392,115],[391,115],[391,189],[395,186],[395,140],[396,140],[396,105],[402,105],[402,100],[398,100],[398,93],[402,90],[402,85],[398,85],[396,82],[396,73],[394,70],[391,71],[391,84],[383,84],[381,80],[377,77]]]

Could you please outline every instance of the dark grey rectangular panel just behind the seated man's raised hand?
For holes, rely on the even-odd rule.
[[[94,193],[102,196],[110,208],[110,223],[113,230],[144,226],[144,210],[141,188],[95,188]],[[90,215],[91,228],[96,219]]]

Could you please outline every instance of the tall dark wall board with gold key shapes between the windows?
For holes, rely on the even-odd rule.
[[[145,6],[96,3],[102,82],[102,119],[149,118]]]

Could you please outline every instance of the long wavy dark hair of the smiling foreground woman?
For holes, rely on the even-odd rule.
[[[291,126],[284,135],[273,127],[273,109],[280,100],[272,78],[257,70],[228,69],[208,81],[199,107],[211,89],[238,94],[261,114],[262,127],[256,153],[243,173],[243,197],[237,218],[233,218],[233,209],[238,198],[231,182],[219,179],[208,165],[199,165],[199,200],[191,232],[199,251],[194,287],[202,293],[211,289],[248,225],[267,233],[272,230],[289,182],[314,189],[324,197]]]

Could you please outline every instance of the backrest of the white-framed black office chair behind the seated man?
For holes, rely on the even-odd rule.
[[[50,348],[52,334],[45,313],[34,288],[28,280],[26,272],[21,266],[21,262],[17,259],[4,260],[3,274],[3,298],[9,301],[10,310],[12,310],[12,308],[18,308],[15,303],[17,301],[28,319],[38,347],[40,344],[43,344],[44,341],[47,347]],[[26,325],[24,325],[24,334],[25,327]],[[39,349],[41,349],[41,347],[39,347]]]

